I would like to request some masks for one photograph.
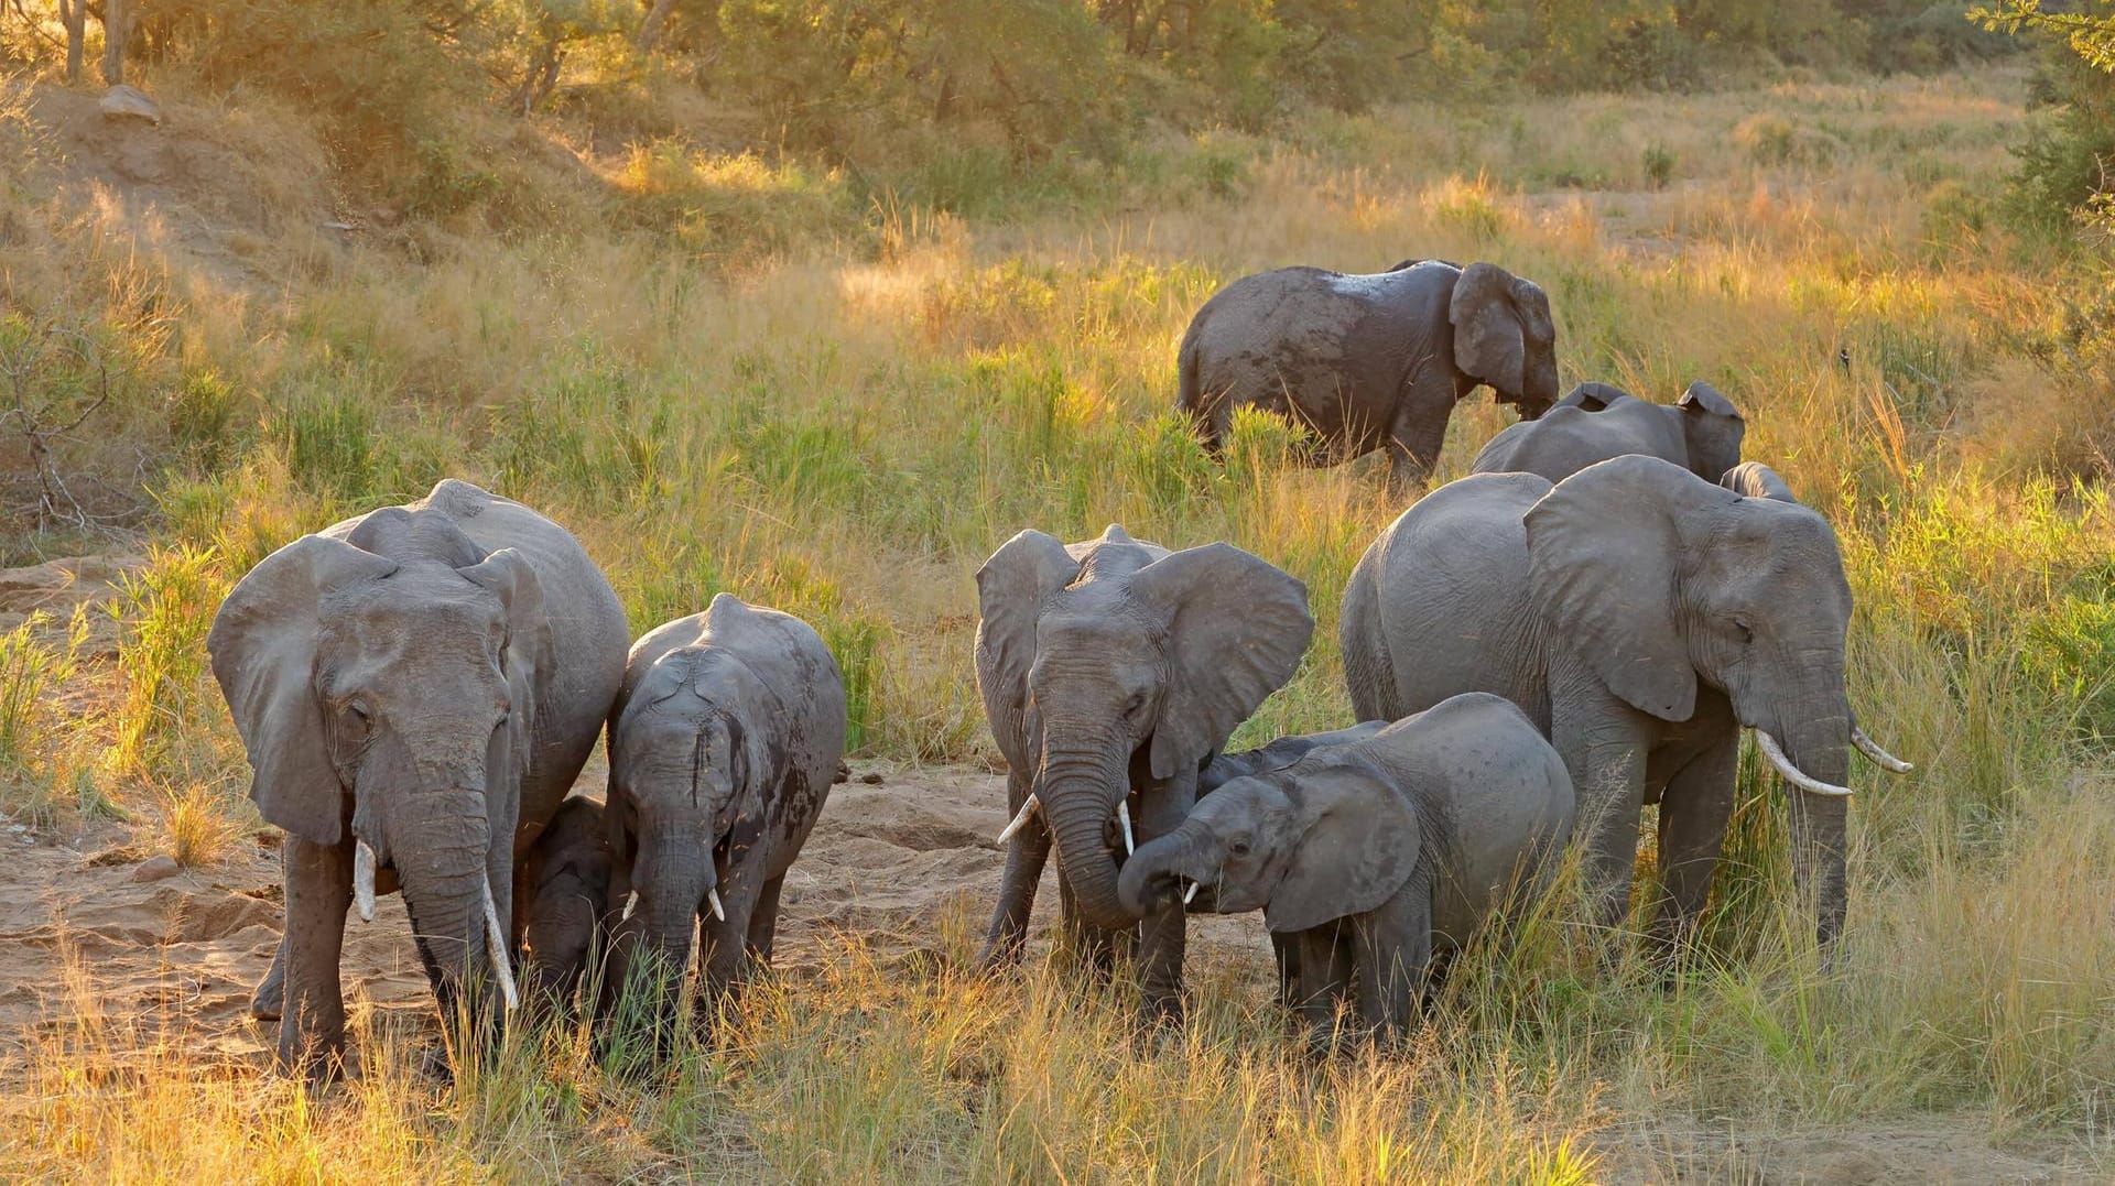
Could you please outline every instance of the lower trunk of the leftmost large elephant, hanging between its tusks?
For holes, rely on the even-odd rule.
[[[484,1006],[484,994],[493,989],[512,998],[510,941],[499,924],[508,903],[495,896],[491,882],[484,793],[396,795],[387,810],[385,848],[442,1015],[450,1015],[459,1000]]]

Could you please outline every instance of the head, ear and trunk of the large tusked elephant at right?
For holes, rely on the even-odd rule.
[[[1794,871],[1817,896],[1821,937],[1834,937],[1853,715],[1851,586],[1827,520],[1629,455],[1559,482],[1525,522],[1538,615],[1563,624],[1610,693],[1688,721],[1698,685],[1719,689],[1800,786]]]

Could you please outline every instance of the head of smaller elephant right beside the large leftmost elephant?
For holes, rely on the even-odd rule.
[[[713,611],[725,613],[719,600]],[[639,894],[626,930],[668,970],[687,966],[698,911],[723,913],[715,848],[755,844],[774,767],[764,729],[730,702],[778,698],[725,649],[677,647],[654,660],[609,731],[609,839]]]

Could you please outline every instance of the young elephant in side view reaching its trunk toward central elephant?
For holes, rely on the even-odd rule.
[[[1571,778],[1508,700],[1464,693],[1290,767],[1235,778],[1123,865],[1125,909],[1193,896],[1263,909],[1296,941],[1294,1002],[1326,1038],[1339,1000],[1400,1036],[1447,956],[1571,831]]]

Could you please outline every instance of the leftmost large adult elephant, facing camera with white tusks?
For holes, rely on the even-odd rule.
[[[258,562],[205,649],[286,829],[286,932],[252,1013],[279,1061],[345,1046],[345,909],[404,890],[442,1015],[514,996],[514,877],[624,677],[624,609],[580,543],[446,480]],[[393,875],[391,875],[393,873]],[[486,1015],[489,1017],[489,1015]]]

